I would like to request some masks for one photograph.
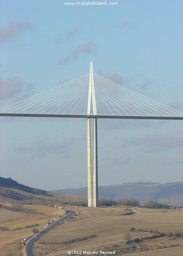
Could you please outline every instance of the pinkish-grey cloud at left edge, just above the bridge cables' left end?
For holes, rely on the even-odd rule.
[[[19,77],[9,78],[7,80],[0,79],[0,100],[9,99],[20,93],[25,93],[22,98],[28,96],[27,91],[32,89],[32,85],[24,82]]]

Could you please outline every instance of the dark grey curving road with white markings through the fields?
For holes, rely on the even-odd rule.
[[[69,218],[71,215],[74,215],[74,211],[67,210],[67,215],[64,215],[62,218],[60,218],[58,221],[55,221],[53,224],[50,224],[48,227],[46,227],[41,232],[37,233],[35,236],[33,236],[26,244],[26,254],[27,256],[36,256],[34,253],[34,244],[46,233],[54,229],[55,227],[59,226],[62,221],[65,221],[67,218]]]

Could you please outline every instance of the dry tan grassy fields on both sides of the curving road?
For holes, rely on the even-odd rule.
[[[5,205],[5,204],[4,204]],[[9,204],[11,207],[11,204]],[[64,215],[66,209],[73,209],[77,215],[65,221],[55,230],[43,236],[36,245],[37,255],[64,256],[68,250],[115,250],[116,255],[126,255],[132,252],[135,246],[135,255],[183,255],[183,238],[160,238],[143,240],[137,244],[126,244],[124,236],[134,227],[135,231],[129,232],[131,239],[152,236],[150,230],[161,233],[183,233],[183,211],[143,209],[134,207],[135,215],[123,215],[127,207],[88,208],[88,207],[60,207],[54,208],[41,205],[24,205],[23,210],[13,212],[7,208],[0,208],[0,227],[8,227],[10,231],[0,230],[0,256],[23,256],[22,240],[33,235],[33,224],[43,226],[48,220]],[[34,213],[34,214],[33,214]],[[20,230],[13,230],[23,228]],[[140,230],[141,229],[141,230]],[[146,231],[145,231],[146,230]],[[95,235],[95,237],[92,237]],[[86,239],[87,237],[87,239]],[[85,240],[83,240],[85,239]],[[179,244],[180,247],[171,247]],[[169,247],[163,249],[164,247]],[[146,251],[142,251],[146,250]],[[147,251],[149,250],[149,251]],[[163,254],[164,253],[164,254]]]

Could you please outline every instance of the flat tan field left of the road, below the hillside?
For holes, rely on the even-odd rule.
[[[11,204],[9,206],[11,207]],[[10,231],[0,230],[0,256],[20,255],[22,240],[33,235],[33,227],[24,227],[39,224],[37,228],[42,230],[47,221],[54,218],[57,220],[60,215],[65,214],[63,209],[41,205],[24,205],[23,209],[34,211],[34,214],[0,209],[0,227],[10,229]],[[23,229],[13,230],[17,228]]]

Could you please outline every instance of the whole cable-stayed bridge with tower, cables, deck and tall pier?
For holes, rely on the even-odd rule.
[[[180,111],[95,74],[92,62],[90,73],[2,108],[0,116],[87,119],[89,207],[98,206],[97,118],[183,120]]]

